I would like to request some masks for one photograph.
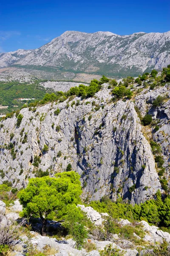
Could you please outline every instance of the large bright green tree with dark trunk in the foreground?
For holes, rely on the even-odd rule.
[[[32,178],[26,189],[18,193],[23,205],[22,216],[41,218],[43,235],[46,233],[47,220],[55,216],[65,218],[68,206],[78,204],[82,193],[78,173],[62,172],[55,176]]]

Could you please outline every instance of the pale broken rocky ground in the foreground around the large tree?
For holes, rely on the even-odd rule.
[[[101,213],[94,210],[92,207],[85,207],[84,205],[78,205],[82,211],[86,212],[88,218],[97,226],[103,228],[103,222],[108,217],[107,213]],[[0,212],[3,214],[3,219],[0,221],[0,227],[6,224],[7,220],[10,220],[10,225],[14,225],[14,221],[17,221],[19,212],[22,211],[22,206],[18,200],[14,201],[14,204],[6,209],[6,204],[0,201]],[[8,212],[8,213],[6,213]],[[54,223],[53,223],[54,224]],[[128,220],[119,219],[120,226],[134,226]],[[36,225],[36,224],[35,224]],[[50,225],[50,224],[48,224]],[[58,225],[58,224],[57,224]],[[136,245],[132,240],[121,239],[119,234],[113,234],[110,241],[96,240],[93,235],[89,235],[86,244],[93,244],[95,250],[87,252],[85,249],[77,250],[75,248],[75,241],[71,238],[56,239],[55,237],[41,236],[39,233],[31,231],[30,236],[23,234],[20,239],[13,242],[13,256],[24,256],[26,248],[30,244],[33,244],[37,250],[42,251],[43,248],[49,247],[54,256],[99,256],[100,251],[104,250],[109,244],[112,248],[117,248],[124,253],[124,256],[139,256],[147,253],[147,248],[152,248],[152,245],[161,244],[163,239],[170,243],[170,234],[159,230],[156,226],[150,226],[146,221],[141,221],[137,225],[141,225],[141,230],[145,233],[142,238],[133,233],[134,241],[137,239],[139,245]],[[57,226],[56,226],[57,228]],[[140,245],[140,241],[142,242]],[[153,249],[150,249],[151,252]]]

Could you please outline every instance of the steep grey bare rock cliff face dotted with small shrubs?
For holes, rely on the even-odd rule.
[[[169,85],[144,89],[134,99],[116,103],[107,87],[104,84],[94,98],[76,97],[34,111],[23,108],[20,127],[15,114],[1,121],[0,169],[5,177],[0,177],[0,182],[9,180],[20,189],[26,187],[28,177],[35,177],[37,170],[48,171],[54,177],[70,163],[81,175],[82,197],[88,200],[108,195],[116,201],[121,196],[124,201],[138,204],[153,198],[158,189],[163,192],[146,128],[135,107],[141,109],[143,116],[149,111],[160,122],[153,139],[162,148],[165,174],[169,177]],[[158,95],[167,95],[167,101],[153,109],[151,104]],[[57,108],[58,115],[54,113]],[[14,134],[11,140],[10,134]],[[48,150],[43,151],[44,145]]]

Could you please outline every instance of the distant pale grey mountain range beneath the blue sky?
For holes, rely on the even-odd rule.
[[[123,36],[100,31],[66,31],[40,48],[0,53],[1,69],[24,68],[37,76],[41,73],[41,78],[79,81],[91,75],[138,76],[152,69],[161,70],[167,64],[170,64],[170,31]]]

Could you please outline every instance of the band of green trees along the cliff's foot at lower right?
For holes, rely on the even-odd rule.
[[[89,205],[98,212],[108,212],[113,219],[127,218],[131,222],[144,220],[167,228],[170,225],[170,196],[161,198],[159,190],[156,192],[156,200],[151,199],[139,205],[114,203],[107,196],[100,201],[91,201]]]

